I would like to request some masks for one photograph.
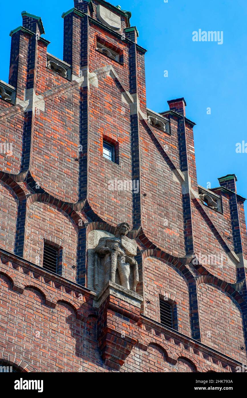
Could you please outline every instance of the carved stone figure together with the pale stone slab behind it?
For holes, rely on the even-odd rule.
[[[138,263],[134,259],[137,244],[126,236],[129,228],[126,222],[122,222],[117,225],[115,235],[97,230],[90,232],[88,287],[96,292],[100,292],[109,281],[136,291],[139,281]],[[94,245],[98,242],[94,249],[90,249],[93,241]]]

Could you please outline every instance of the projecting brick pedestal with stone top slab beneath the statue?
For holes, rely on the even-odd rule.
[[[143,298],[108,282],[94,300],[99,309],[97,338],[105,365],[117,371],[137,343],[136,323]]]

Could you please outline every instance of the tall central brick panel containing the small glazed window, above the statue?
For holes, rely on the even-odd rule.
[[[125,220],[131,225],[132,192],[108,188],[115,178],[132,179],[129,110],[110,76],[100,79],[99,87],[90,90],[89,104],[88,202],[104,221],[117,224]],[[117,140],[119,164],[103,158],[103,135],[110,143]]]

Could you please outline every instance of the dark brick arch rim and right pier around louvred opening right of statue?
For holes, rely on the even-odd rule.
[[[193,339],[200,339],[200,326],[199,326],[199,314],[198,314],[198,304],[197,304],[197,291],[196,282],[193,274],[186,267],[185,264],[180,261],[180,259],[171,256],[159,249],[148,249],[142,254],[143,263],[147,258],[155,258],[159,261],[170,265],[178,274],[184,279],[187,289],[188,289],[188,299],[189,299],[189,313],[190,313],[190,330],[191,337]],[[178,300],[176,300],[177,302]]]

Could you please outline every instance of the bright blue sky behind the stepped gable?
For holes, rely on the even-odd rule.
[[[145,47],[147,107],[161,112],[167,100],[184,97],[186,115],[195,121],[198,183],[218,186],[218,177],[235,173],[237,192],[247,197],[247,153],[236,144],[247,133],[247,3],[245,0],[119,0],[132,12],[131,25]],[[117,5],[113,3],[114,5]],[[41,16],[48,51],[63,57],[61,14],[73,0],[12,0],[1,4],[2,60],[0,79],[8,82],[11,29],[21,25],[21,11]],[[192,32],[223,31],[223,44],[194,42]],[[168,77],[164,77],[164,70]],[[211,108],[211,115],[207,108]],[[247,206],[245,206],[245,212]]]

